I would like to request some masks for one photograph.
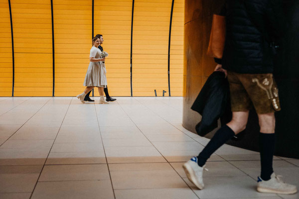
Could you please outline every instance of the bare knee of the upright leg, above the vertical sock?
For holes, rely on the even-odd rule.
[[[275,116],[274,112],[259,114],[259,123],[262,133],[274,133],[275,132]]]

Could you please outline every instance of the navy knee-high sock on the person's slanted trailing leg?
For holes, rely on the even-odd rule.
[[[235,135],[234,131],[227,125],[219,128],[209,143],[204,147],[204,149],[197,156],[197,164],[202,167],[207,159],[227,140],[231,139]]]

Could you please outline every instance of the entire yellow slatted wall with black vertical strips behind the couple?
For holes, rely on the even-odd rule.
[[[174,0],[171,96],[182,95],[183,0]],[[133,0],[94,0],[94,35],[104,35],[111,96],[131,96],[130,53]],[[52,96],[50,0],[11,0],[14,35],[14,96]],[[171,0],[135,0],[133,96],[168,96],[168,38]],[[11,96],[12,49],[8,0],[0,0],[0,96]],[[55,96],[84,90],[92,38],[91,0],[53,0]],[[95,92],[98,96],[98,92]]]

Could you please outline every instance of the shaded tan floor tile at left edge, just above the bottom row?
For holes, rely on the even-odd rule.
[[[0,174],[0,193],[32,192],[39,173]]]

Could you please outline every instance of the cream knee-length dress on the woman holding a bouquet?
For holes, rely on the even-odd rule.
[[[90,57],[100,59],[102,51],[97,47],[90,49]],[[85,80],[83,83],[85,87],[104,87],[107,86],[106,67],[103,62],[90,62]]]

